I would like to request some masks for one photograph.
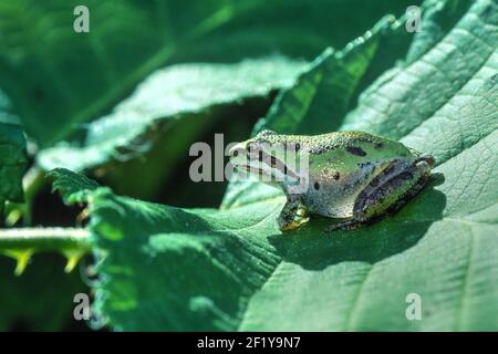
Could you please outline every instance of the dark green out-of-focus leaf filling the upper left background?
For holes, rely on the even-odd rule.
[[[44,146],[112,108],[158,67],[274,52],[312,58],[411,1],[91,0],[84,3],[90,32],[76,33],[73,11],[80,4],[0,4],[0,81],[27,132]],[[354,8],[362,11],[351,15]]]

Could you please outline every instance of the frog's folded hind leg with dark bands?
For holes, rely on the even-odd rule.
[[[391,163],[360,192],[353,207],[353,218],[367,223],[398,210],[422,190],[428,176],[424,163],[411,166],[402,160]]]

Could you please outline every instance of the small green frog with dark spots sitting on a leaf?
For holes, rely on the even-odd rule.
[[[307,156],[308,168],[298,170],[289,154],[274,153],[276,145]],[[367,226],[417,195],[435,165],[430,154],[357,131],[286,135],[263,129],[228,153],[236,171],[266,176],[264,183],[283,190],[287,201],[277,218],[281,231],[300,228],[313,215],[332,219],[326,231]],[[305,188],[297,191],[297,184]]]

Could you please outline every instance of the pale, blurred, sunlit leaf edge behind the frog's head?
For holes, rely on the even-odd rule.
[[[64,167],[81,171],[113,159],[129,159],[149,148],[151,137],[136,142],[147,132],[159,131],[160,125],[180,117],[191,119],[191,126],[197,124],[196,114],[268,96],[272,90],[292,85],[304,66],[303,61],[270,56],[238,64],[178,64],[158,70],[110,115],[90,124],[83,144],[63,143],[45,149],[38,162],[46,170]]]

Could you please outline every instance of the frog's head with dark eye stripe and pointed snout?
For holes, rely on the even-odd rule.
[[[262,131],[255,137],[239,143],[230,148],[230,163],[238,171],[248,173],[264,183],[284,183],[298,179],[294,168],[288,164],[288,153],[292,144],[290,136],[280,135],[272,131]]]

